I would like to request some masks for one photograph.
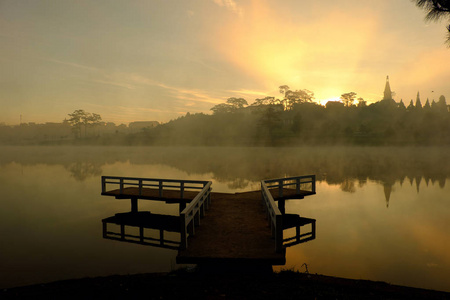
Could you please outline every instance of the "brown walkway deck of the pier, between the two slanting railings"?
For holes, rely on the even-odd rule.
[[[177,263],[266,263],[284,265],[285,253],[275,252],[261,192],[211,193],[211,207]]]

